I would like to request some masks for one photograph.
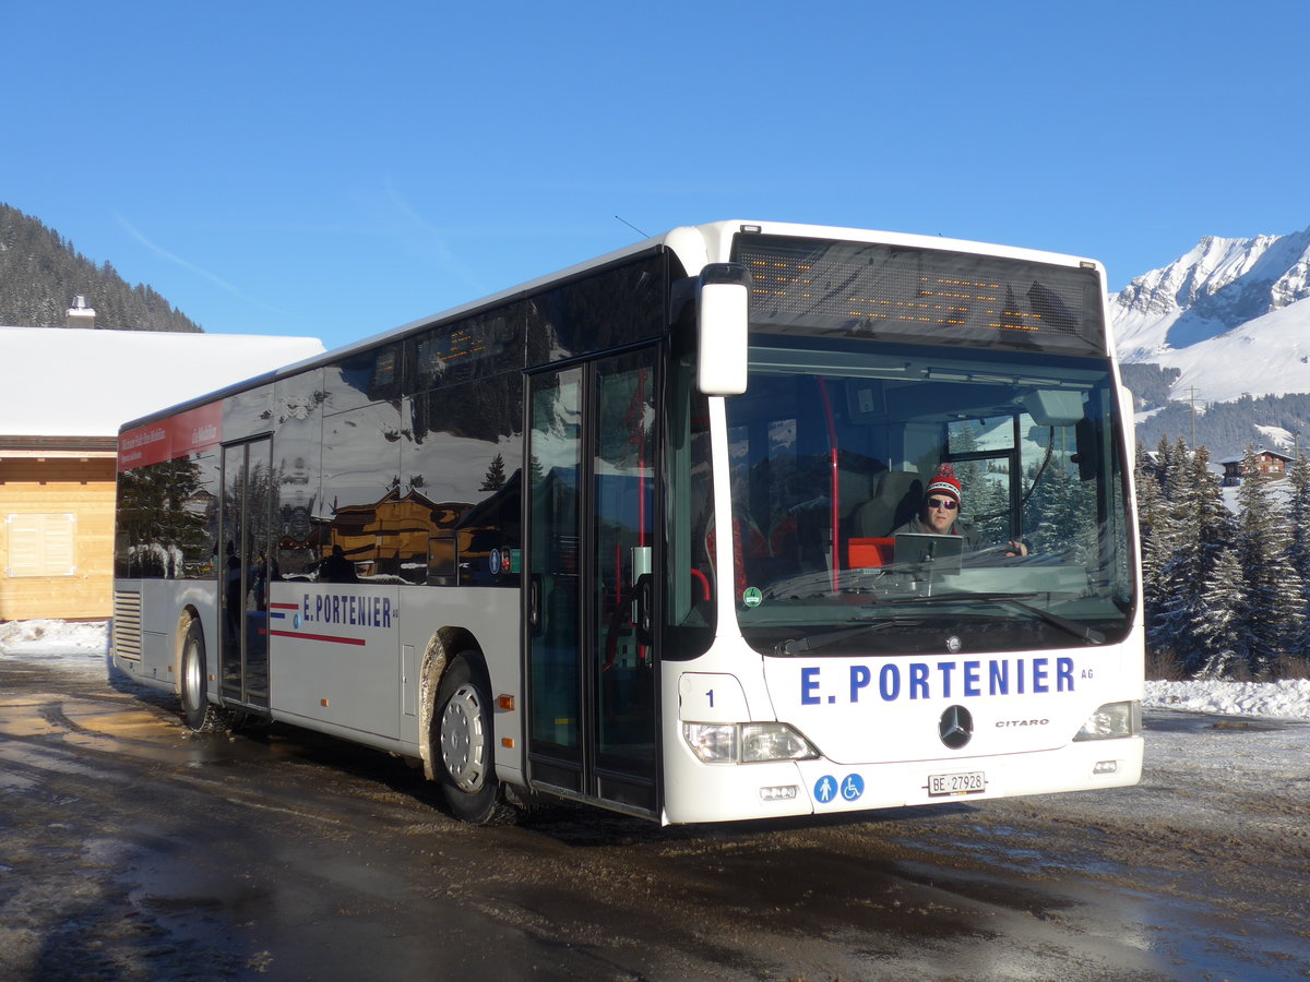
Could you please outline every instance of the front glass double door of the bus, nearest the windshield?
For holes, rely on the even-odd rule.
[[[529,775],[654,814],[656,348],[529,384]]]

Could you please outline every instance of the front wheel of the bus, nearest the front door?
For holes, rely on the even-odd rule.
[[[491,697],[465,655],[457,655],[436,691],[436,759],[441,791],[456,817],[470,825],[500,825],[516,816],[495,776]]]

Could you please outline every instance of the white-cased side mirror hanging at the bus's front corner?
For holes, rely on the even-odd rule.
[[[696,388],[706,395],[745,391],[751,271],[710,263],[696,284]]]

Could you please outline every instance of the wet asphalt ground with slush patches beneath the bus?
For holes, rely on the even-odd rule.
[[[1218,737],[1288,758],[1271,793],[1188,766],[1209,718],[1150,723],[1117,792],[472,829],[396,758],[193,736],[103,664],[5,657],[0,979],[1306,977],[1310,728]]]

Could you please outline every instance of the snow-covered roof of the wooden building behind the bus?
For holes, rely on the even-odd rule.
[[[317,338],[0,327],[0,436],[114,436],[130,419],[324,351]]]

